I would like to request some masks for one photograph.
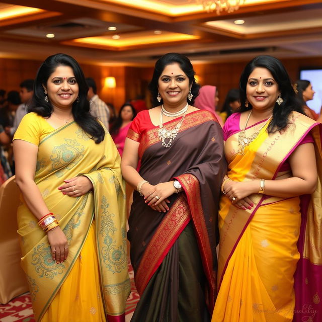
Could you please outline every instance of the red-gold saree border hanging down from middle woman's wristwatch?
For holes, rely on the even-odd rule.
[[[207,305],[210,312],[214,308],[215,294],[216,294],[216,273],[213,270],[212,252],[209,238],[207,238],[207,226],[203,214],[203,208],[201,204],[200,184],[198,179],[191,174],[184,174],[174,178],[182,185],[191,210],[191,217],[194,222],[194,231],[196,234],[200,256],[203,263],[204,272],[206,274],[209,283],[209,293],[207,299]]]

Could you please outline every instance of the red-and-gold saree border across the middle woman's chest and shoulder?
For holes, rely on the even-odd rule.
[[[181,128],[179,130],[179,133],[208,121],[215,121],[218,123],[215,116],[209,111],[195,111],[195,112],[189,113],[188,115],[186,115],[181,125]],[[167,129],[169,130],[174,129],[177,124],[178,124],[178,118],[165,123],[165,125],[167,125]],[[159,126],[156,126],[146,131],[146,133],[142,134],[141,142],[139,145],[139,151],[138,151],[140,158],[142,158],[143,153],[148,147],[150,147],[151,145],[157,142],[160,142],[160,139],[158,136],[158,130],[159,130]]]

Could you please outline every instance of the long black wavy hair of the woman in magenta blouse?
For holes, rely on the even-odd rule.
[[[268,55],[255,57],[246,65],[245,69],[241,73],[239,80],[240,108],[238,109],[238,112],[252,109],[252,105],[250,103],[248,107],[245,105],[247,99],[246,87],[250,74],[257,67],[266,68],[271,72],[283,99],[283,103],[281,105],[275,103],[273,108],[273,118],[268,126],[268,133],[275,133],[276,131],[284,129],[289,124],[288,119],[292,111],[296,111],[304,115],[305,113],[303,112],[300,100],[295,94],[285,67],[279,59]]]

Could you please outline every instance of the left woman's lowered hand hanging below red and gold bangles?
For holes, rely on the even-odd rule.
[[[51,248],[52,260],[56,261],[57,264],[62,263],[68,255],[68,241],[64,232],[58,226],[49,230],[47,236]]]

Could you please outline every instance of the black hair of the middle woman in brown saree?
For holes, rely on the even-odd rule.
[[[189,85],[191,86],[191,94],[193,95],[193,98],[191,101],[188,101],[187,99],[187,102],[192,105],[195,98],[199,95],[200,86],[196,83],[196,79],[194,77],[196,73],[193,70],[193,66],[189,58],[182,54],[170,52],[168,54],[163,55],[156,61],[153,76],[151,82],[148,85],[148,89],[150,90],[152,96],[151,101],[153,107],[163,104],[163,100],[161,100],[161,102],[158,102],[156,99],[158,93],[158,79],[164,71],[164,69],[166,68],[166,66],[171,65],[173,63],[178,63],[180,68],[185,72],[185,74],[189,78]]]

